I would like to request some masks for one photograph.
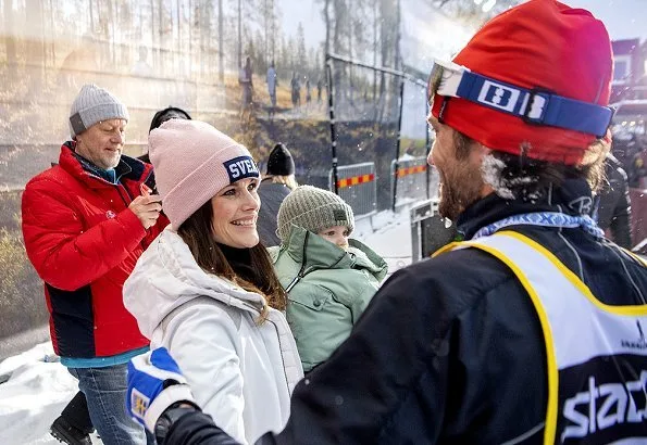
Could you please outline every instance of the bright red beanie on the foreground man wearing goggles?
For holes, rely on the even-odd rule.
[[[458,65],[527,89],[606,106],[612,78],[611,42],[588,11],[555,0],[531,0],[496,16],[453,59]],[[460,98],[447,98],[441,120],[485,147],[528,157],[578,164],[594,135],[525,123]],[[436,94],[437,118],[444,98]]]

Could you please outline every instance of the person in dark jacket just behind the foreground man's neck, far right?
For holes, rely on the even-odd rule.
[[[598,226],[610,232],[610,238],[621,247],[631,249],[631,212],[626,173],[611,153],[605,166],[607,181],[595,199]]]

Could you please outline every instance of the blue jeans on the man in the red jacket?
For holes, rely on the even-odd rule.
[[[92,424],[105,445],[142,445],[144,428],[126,412],[127,365],[105,368],[67,368],[78,379],[88,402]]]

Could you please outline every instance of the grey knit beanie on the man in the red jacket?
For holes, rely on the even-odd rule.
[[[100,120],[128,120],[128,109],[103,88],[86,84],[72,102],[70,134],[75,138]]]

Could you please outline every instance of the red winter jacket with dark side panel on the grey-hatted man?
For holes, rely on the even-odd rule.
[[[84,168],[61,148],[59,164],[33,178],[23,193],[27,256],[45,281],[50,334],[62,357],[94,358],[148,345],[122,297],[137,258],[169,224],[148,230],[128,208],[141,183],[152,188],[152,166],[122,156],[119,185]]]

